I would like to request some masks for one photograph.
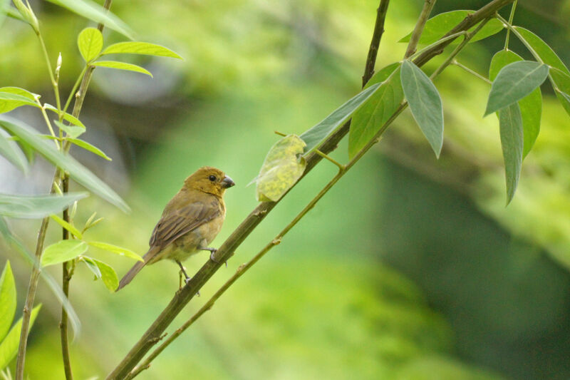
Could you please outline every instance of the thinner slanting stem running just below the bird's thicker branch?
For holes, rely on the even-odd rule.
[[[487,22],[487,20],[484,20],[481,23],[481,25],[477,29],[475,29],[475,31],[473,31],[470,34],[467,34],[464,43],[461,43],[460,46],[457,46],[457,48],[450,54],[450,56],[452,56],[452,57],[457,56],[457,53],[459,53],[459,51],[463,47],[465,47],[467,42],[469,42],[469,40],[473,36],[475,36],[475,34],[477,34],[477,31],[479,31],[486,22]],[[441,73],[447,66],[449,66],[449,61],[451,61],[451,59],[447,59],[444,63],[442,63],[440,68],[438,68],[438,70],[436,70],[435,76],[439,75],[439,73]],[[354,158],[351,161],[349,161],[348,164],[346,164],[346,165],[341,165],[341,164],[337,163],[335,160],[328,157],[328,155],[321,153],[320,150],[316,150],[316,153],[318,155],[321,155],[323,158],[331,160],[333,163],[335,163],[335,165],[338,166],[338,168],[340,169],[338,171],[338,174],[335,175],[333,177],[333,179],[329,183],[327,183],[325,185],[325,187],[320,192],[318,192],[316,197],[314,197],[304,207],[304,209],[301,210],[301,212],[299,212],[299,214],[293,220],[291,220],[291,222],[289,222],[289,225],[287,225],[281,232],[279,232],[279,234],[276,237],[274,237],[274,239],[271,240],[271,242],[267,243],[267,245],[261,251],[259,251],[257,253],[257,255],[255,255],[252,258],[252,260],[249,260],[249,262],[247,262],[244,265],[240,265],[238,267],[237,271],[234,273],[234,275],[232,277],[230,277],[227,280],[227,282],[225,282],[222,285],[222,287],[220,287],[218,289],[218,291],[216,293],[214,293],[214,295],[210,299],[208,299],[208,301],[198,310],[198,312],[196,312],[196,314],[194,314],[190,319],[188,319],[187,322],[182,324],[182,326],[179,327],[174,333],[172,333],[170,335],[170,337],[167,337],[167,339],[165,339],[165,341],[162,342],[162,344],[160,344],[160,346],[158,346],[154,351],[152,351],[152,353],[149,356],[147,356],[147,358],[144,361],[142,361],[142,363],[140,365],[136,366],[135,369],[133,369],[133,371],[131,371],[128,374],[128,376],[125,377],[125,379],[133,379],[135,376],[140,374],[141,371],[144,371],[145,369],[150,368],[150,363],[162,351],[164,351],[164,349],[170,343],[172,343],[177,337],[179,337],[180,334],[182,334],[182,332],[184,332],[188,327],[190,327],[197,319],[199,319],[199,317],[202,317],[202,314],[207,312],[209,309],[212,309],[212,306],[214,306],[214,303],[217,301],[217,299],[219,299],[219,297],[222,297],[222,294],[224,294],[224,292],[227,289],[229,289],[229,287],[231,287],[232,284],[234,284],[234,282],[236,282],[237,279],[239,279],[239,277],[242,277],[242,275],[245,272],[247,272],[247,270],[249,268],[251,268],[256,262],[258,262],[261,259],[261,257],[264,257],[264,255],[267,252],[269,252],[269,250],[271,250],[271,248],[275,247],[276,245],[279,245],[279,243],[281,243],[281,240],[287,234],[287,232],[289,232],[299,222],[299,220],[301,220],[316,205],[316,203],[319,200],[321,200],[321,198],[326,194],[326,192],[328,192],[328,190],[331,190],[331,188],[338,182],[338,180],[340,180],[343,177],[343,175],[345,175],[346,172],[348,172],[348,170],[350,170],[358,162],[358,160],[360,160],[363,157],[363,155],[365,155],[368,152],[368,150],[370,150],[373,147],[373,145],[378,142],[378,140],[383,135],[385,130],[388,129],[388,126],[390,126],[390,124],[392,124],[393,121],[396,118],[398,118],[398,115],[400,115],[400,113],[402,113],[405,110],[405,108],[407,108],[407,107],[408,107],[407,102],[401,104],[400,107],[398,108],[398,110],[396,110],[395,113],[390,117],[390,119],[388,121],[386,121],[386,123],[380,128],[380,130],[378,130],[378,133],[376,133],[374,135],[374,137],[371,138],[371,140],[369,140],[368,143],[361,150],[359,150],[358,153],[356,153],[356,155],[354,156]]]

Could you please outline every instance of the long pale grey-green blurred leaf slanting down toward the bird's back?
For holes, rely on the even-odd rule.
[[[103,197],[103,199],[119,207],[121,210],[125,212],[129,210],[125,201],[122,200],[113,189],[97,178],[97,176],[81,165],[81,163],[78,163],[77,160],[61,153],[51,143],[39,137],[36,130],[31,128],[31,126],[19,120],[9,118],[8,116],[0,118],[0,126],[26,141],[26,143],[30,144],[38,153],[43,155],[43,157],[54,165],[66,170],[70,177],[76,180],[77,183],[95,192],[95,194]]]

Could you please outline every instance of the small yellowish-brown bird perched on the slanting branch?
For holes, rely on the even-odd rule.
[[[204,166],[196,170],[184,181],[182,189],[168,202],[162,217],[152,231],[150,249],[142,257],[144,262],[137,262],[125,277],[120,280],[119,289],[125,287],[140,269],[158,260],[174,260],[186,277],[190,277],[182,267],[182,260],[200,250],[216,252],[208,245],[222,229],[226,217],[224,192],[234,184],[232,178],[216,168]],[[213,260],[213,259],[212,259]]]

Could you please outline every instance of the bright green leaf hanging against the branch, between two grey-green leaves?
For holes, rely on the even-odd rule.
[[[400,63],[387,66],[371,78],[380,88],[354,113],[348,135],[348,156],[353,158],[398,109],[404,98],[400,84]]]

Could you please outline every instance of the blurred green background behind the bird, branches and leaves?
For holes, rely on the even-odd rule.
[[[433,14],[487,1],[437,1]],[[48,51],[61,51],[61,88],[81,70],[76,36],[92,23],[31,1]],[[377,68],[398,61],[423,1],[392,1]],[[124,215],[96,197],[80,202],[105,220],[87,234],[147,249],[162,207],[199,166],[237,183],[227,192],[220,245],[257,205],[247,187],[281,133],[300,134],[357,93],[373,30],[375,0],[113,1],[113,11],[184,61],[127,57],[154,79],[95,70],[81,120],[86,140],[112,163],[72,150],[125,197]],[[508,9],[501,12],[508,15]],[[570,1],[519,1],[514,23],[534,31],[570,63]],[[122,36],[105,31],[105,44]],[[527,56],[511,38],[512,48]],[[458,61],[486,75],[504,31],[472,44]],[[20,86],[54,103],[31,29],[0,29],[0,86]],[[427,65],[432,70],[442,58]],[[281,245],[143,372],[140,379],[569,379],[569,117],[544,86],[541,134],[525,159],[514,201],[504,207],[497,119],[482,118],[489,86],[450,67],[436,81],[445,143],[435,160],[409,112],[304,218]],[[39,113],[12,113],[43,128]],[[346,141],[333,156],[346,162]],[[28,178],[0,159],[1,192],[45,193],[52,169],[38,159]],[[336,173],[321,163],[239,247],[172,324],[189,318],[242,263],[296,215]],[[39,222],[13,220],[32,248]],[[51,227],[48,242],[60,231]],[[29,268],[11,260],[19,302]],[[133,265],[91,252],[117,269]],[[207,254],[185,265],[195,272]],[[61,269],[50,268],[54,277]],[[177,267],[160,262],[112,294],[81,265],[71,302],[83,323],[71,346],[76,379],[104,378],[170,301]],[[30,379],[63,379],[60,307],[42,287],[29,339]]]

